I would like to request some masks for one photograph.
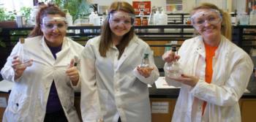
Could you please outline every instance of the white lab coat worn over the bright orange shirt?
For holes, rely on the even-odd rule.
[[[181,91],[173,113],[173,122],[239,122],[241,113],[238,100],[244,94],[252,75],[252,59],[244,50],[222,36],[213,58],[211,84],[205,81],[205,47],[202,37],[186,40],[178,50],[179,63],[184,74],[199,74],[194,88],[181,85]],[[199,70],[198,70],[199,69]],[[171,85],[175,81],[167,79]],[[207,102],[202,116],[203,100]],[[197,110],[192,109],[198,104]],[[193,108],[196,108],[193,107]]]

